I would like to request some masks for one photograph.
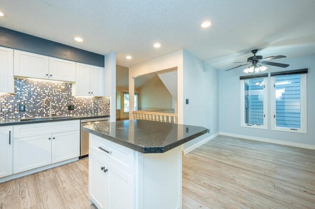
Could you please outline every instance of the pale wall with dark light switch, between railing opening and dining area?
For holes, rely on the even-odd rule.
[[[184,124],[210,129],[204,134],[184,144],[184,153],[196,144],[219,132],[219,71],[183,51]]]

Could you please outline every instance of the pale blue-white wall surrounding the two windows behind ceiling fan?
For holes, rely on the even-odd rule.
[[[268,88],[268,129],[258,130],[253,128],[241,127],[240,115],[240,76],[244,76],[243,68],[231,71],[219,72],[219,127],[220,132],[245,135],[250,137],[259,137],[271,140],[283,141],[284,144],[298,143],[306,145],[315,145],[315,55],[284,58],[275,60],[290,64],[287,68],[279,68],[268,66],[266,72],[279,72],[285,70],[295,70],[301,68],[308,68],[307,74],[307,134],[292,133],[285,131],[271,130],[271,116],[270,116],[270,92],[272,88]],[[270,78],[268,80],[270,86]],[[249,138],[250,138],[249,137]]]

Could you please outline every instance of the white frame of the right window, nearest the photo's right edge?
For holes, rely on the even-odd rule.
[[[287,128],[276,126],[276,76],[271,77],[271,130],[287,131],[294,133],[307,133],[307,74],[300,74],[300,106],[301,106],[301,128]]]

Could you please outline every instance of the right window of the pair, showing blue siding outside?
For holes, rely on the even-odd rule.
[[[272,130],[306,133],[306,74],[293,72],[271,73]]]

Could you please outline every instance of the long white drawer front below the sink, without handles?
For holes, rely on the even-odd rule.
[[[61,122],[47,122],[17,125],[13,127],[14,138],[38,136],[43,134],[60,133],[66,131],[79,131],[80,120],[70,120]]]

